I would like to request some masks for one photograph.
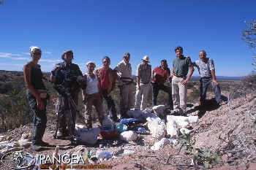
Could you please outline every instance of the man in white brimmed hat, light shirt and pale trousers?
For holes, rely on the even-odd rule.
[[[136,95],[135,95],[135,109],[146,109],[147,107],[147,96],[150,88],[151,78],[151,65],[149,58],[145,55],[142,59],[143,62],[138,64],[136,70]],[[140,99],[142,98],[142,100]]]

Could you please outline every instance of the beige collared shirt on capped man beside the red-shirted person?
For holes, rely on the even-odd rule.
[[[130,63],[125,63],[123,60],[117,64],[114,70],[118,72],[121,80],[132,81],[132,66]]]

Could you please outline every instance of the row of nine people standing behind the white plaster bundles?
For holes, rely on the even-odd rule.
[[[57,69],[68,69],[75,77],[83,77],[86,81],[86,88],[82,88],[83,104],[85,106],[86,127],[92,128],[92,107],[96,109],[100,125],[105,118],[102,102],[105,99],[108,105],[109,116],[113,121],[118,122],[116,104],[113,99],[113,90],[116,88],[116,81],[120,89],[120,118],[128,117],[127,112],[135,106],[135,109],[147,108],[148,90],[152,85],[152,104],[157,105],[157,96],[159,90],[168,93],[170,109],[174,109],[180,115],[186,114],[187,111],[187,81],[192,77],[194,66],[197,67],[200,74],[200,112],[206,112],[206,91],[208,85],[214,88],[215,98],[218,103],[222,103],[219,82],[215,76],[214,61],[206,58],[206,51],[201,50],[199,53],[200,60],[192,63],[189,56],[184,57],[183,48],[175,48],[176,58],[173,60],[172,69],[170,70],[167,61],[163,59],[160,66],[151,69],[149,58],[145,55],[138,64],[136,69],[136,94],[135,104],[133,96],[133,79],[132,66],[129,63],[130,54],[124,53],[123,60],[117,64],[114,69],[110,68],[110,58],[102,58],[102,67],[95,69],[96,64],[93,61],[86,63],[87,72],[82,74],[77,64],[72,63],[74,53],[72,50],[64,50],[61,55],[63,62],[56,63],[53,67],[50,80],[54,83],[58,81]],[[46,104],[47,100],[40,91],[45,89],[42,81],[43,74],[41,66],[38,64],[42,56],[42,50],[37,46],[30,47],[31,61],[23,66],[25,77],[27,98],[29,105],[34,111],[34,131],[32,139],[32,150],[39,150],[40,147],[48,146],[47,142],[42,141],[45,133],[47,117]],[[151,81],[151,78],[153,81]],[[167,84],[167,85],[166,85]],[[78,106],[78,93],[80,86],[78,84],[69,87],[72,100]],[[67,102],[68,98],[59,96],[58,104]],[[59,119],[59,136],[68,136],[67,124],[64,114],[64,108],[57,107],[62,116]],[[75,129],[76,108],[71,107],[72,112],[72,130]]]

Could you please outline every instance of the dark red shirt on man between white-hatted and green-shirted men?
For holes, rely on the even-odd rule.
[[[170,77],[170,69],[167,67],[166,69],[162,69],[161,66],[157,66],[153,69],[156,73],[154,75],[154,82],[164,84],[167,80],[167,77]]]

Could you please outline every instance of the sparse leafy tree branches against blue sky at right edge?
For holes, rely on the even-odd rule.
[[[242,40],[249,45],[249,49],[252,51],[253,54],[253,62],[252,65],[256,66],[256,20],[252,21],[244,21],[246,25],[246,30],[242,32]],[[256,70],[254,71],[256,72]]]

